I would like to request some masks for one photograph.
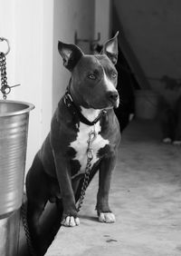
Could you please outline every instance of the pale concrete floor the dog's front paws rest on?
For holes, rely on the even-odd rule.
[[[98,176],[81,210],[81,225],[62,227],[46,256],[180,256],[181,147],[160,143],[150,121],[123,133],[110,205],[117,222],[97,222]]]

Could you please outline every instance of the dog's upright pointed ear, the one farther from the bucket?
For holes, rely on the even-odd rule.
[[[106,54],[109,58],[110,61],[113,64],[117,64],[118,60],[118,37],[119,31],[114,35],[113,38],[111,38],[109,41],[107,41],[105,44],[103,44],[103,48],[101,51],[101,54]]]

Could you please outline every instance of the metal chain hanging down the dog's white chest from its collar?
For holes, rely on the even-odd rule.
[[[82,183],[82,186],[81,186],[81,196],[80,196],[79,204],[78,204],[78,207],[77,207],[77,212],[80,212],[80,210],[81,210],[81,205],[83,203],[83,200],[84,200],[84,197],[85,197],[85,192],[86,192],[86,189],[87,189],[88,184],[89,184],[90,171],[91,171],[91,161],[93,160],[93,150],[92,150],[91,144],[96,139],[96,137],[97,137],[97,133],[95,132],[95,126],[94,126],[94,130],[90,131],[90,133],[89,133],[88,149],[87,149],[87,164],[86,164],[86,168],[85,168],[83,183]]]

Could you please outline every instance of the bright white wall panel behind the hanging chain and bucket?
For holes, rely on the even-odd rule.
[[[49,0],[0,0],[0,36],[9,39],[8,83],[21,84],[7,99],[30,102],[28,169],[50,129],[52,116],[52,15]]]

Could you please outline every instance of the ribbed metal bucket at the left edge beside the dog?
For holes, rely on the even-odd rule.
[[[31,103],[0,101],[0,219],[22,205]]]

